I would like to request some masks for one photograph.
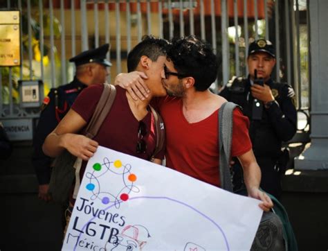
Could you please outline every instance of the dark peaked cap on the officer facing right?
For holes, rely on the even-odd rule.
[[[77,67],[79,65],[88,64],[91,62],[103,64],[106,67],[111,67],[111,62],[106,60],[108,49],[109,44],[104,44],[98,48],[83,51],[82,53],[75,55],[75,57],[71,58],[69,62],[74,62]]]

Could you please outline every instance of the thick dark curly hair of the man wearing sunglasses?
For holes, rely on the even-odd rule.
[[[167,58],[179,74],[194,78],[197,91],[205,91],[217,78],[217,56],[212,46],[194,35],[173,39]]]

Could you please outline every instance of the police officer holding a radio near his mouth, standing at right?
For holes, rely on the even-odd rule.
[[[289,159],[282,151],[282,141],[296,132],[296,110],[293,89],[286,83],[275,83],[271,72],[275,66],[275,50],[268,40],[257,40],[248,47],[248,78],[233,78],[219,95],[242,107],[250,120],[249,135],[253,151],[262,171],[260,187],[277,198],[281,194],[281,175]],[[242,168],[234,159],[235,189],[242,186]]]

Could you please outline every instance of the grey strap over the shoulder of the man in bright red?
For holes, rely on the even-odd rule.
[[[233,110],[237,105],[226,102],[219,109],[219,173],[221,188],[233,191],[230,174],[231,142],[233,140]]]

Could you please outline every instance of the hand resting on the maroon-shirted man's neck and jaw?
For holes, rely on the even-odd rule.
[[[115,78],[114,85],[119,85],[131,95],[134,100],[145,100],[148,97],[149,89],[145,84],[148,77],[141,71],[131,71],[129,73],[120,73]]]

